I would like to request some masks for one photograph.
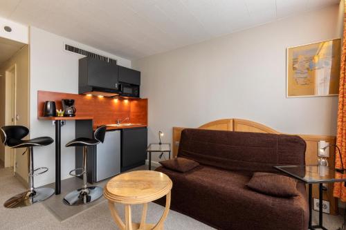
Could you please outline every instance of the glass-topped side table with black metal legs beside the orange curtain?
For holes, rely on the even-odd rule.
[[[290,166],[274,166],[275,169],[291,175],[293,178],[301,180],[302,182],[309,184],[309,229],[325,229],[323,227],[322,218],[322,184],[345,182],[346,178],[336,178],[336,172],[327,166],[322,165],[290,165]],[[319,184],[319,217],[318,225],[311,225],[311,211],[312,211],[312,184]]]

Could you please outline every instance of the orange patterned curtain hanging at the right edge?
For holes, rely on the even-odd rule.
[[[346,9],[346,6],[345,6]],[[344,10],[345,10],[344,9]],[[339,104],[338,104],[338,128],[336,133],[336,144],[340,147],[343,156],[343,165],[346,167],[346,90],[345,90],[345,70],[346,70],[346,10],[344,11],[343,20],[343,54],[341,56],[341,72],[339,87]],[[340,157],[338,152],[335,155],[335,167],[341,169]],[[337,178],[346,178],[346,174],[336,173]],[[334,184],[334,196],[346,202],[346,187],[344,183]]]

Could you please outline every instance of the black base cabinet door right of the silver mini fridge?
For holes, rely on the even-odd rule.
[[[147,128],[124,128],[121,131],[121,171],[145,164]]]

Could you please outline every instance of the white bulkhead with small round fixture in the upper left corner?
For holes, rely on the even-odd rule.
[[[12,28],[12,32],[7,32],[6,30],[4,30],[4,26],[10,26],[10,28]],[[3,19],[0,17],[0,37],[6,37],[7,39],[28,44],[28,35],[28,26],[24,26],[15,21],[10,21],[8,19]]]

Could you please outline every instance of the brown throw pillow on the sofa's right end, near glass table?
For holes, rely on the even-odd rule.
[[[298,195],[297,180],[284,175],[253,173],[253,177],[246,185],[257,192],[281,198]]]

